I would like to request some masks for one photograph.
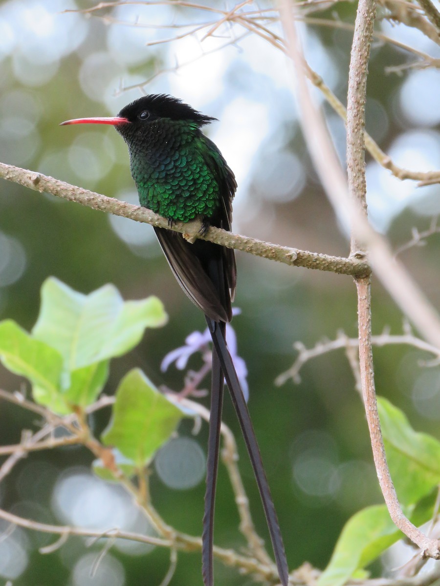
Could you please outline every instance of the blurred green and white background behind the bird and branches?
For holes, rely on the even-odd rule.
[[[270,6],[260,2],[259,8],[262,5]],[[136,203],[126,146],[113,128],[58,124],[68,118],[114,115],[141,91],[170,93],[219,119],[206,131],[238,179],[235,231],[306,250],[348,253],[347,234],[327,203],[304,147],[290,70],[279,51],[230,26],[204,42],[204,33],[199,32],[147,46],[212,18],[205,11],[171,3],[139,2],[90,15],[64,12],[89,6],[92,3],[73,0],[0,2],[0,161]],[[353,23],[355,11],[354,3],[331,2],[321,4],[315,16]],[[438,47],[419,30],[383,16],[380,8],[378,32],[440,57]],[[170,23],[187,28],[164,28]],[[301,25],[301,30],[310,65],[345,103],[352,33],[317,25]],[[375,40],[367,130],[395,163],[429,171],[440,168],[438,70],[387,69],[416,60],[411,52]],[[138,84],[144,84],[142,90]],[[316,99],[323,101],[317,91]],[[344,125],[326,104],[323,108],[343,161]],[[367,181],[371,221],[395,248],[411,239],[413,227],[426,229],[440,212],[438,185],[417,188],[415,182],[401,182],[370,159]],[[439,252],[440,237],[435,234],[427,246],[401,255],[435,304],[440,300]],[[355,288],[350,277],[292,269],[244,253],[237,254],[237,261],[236,306],[241,314],[233,325],[238,353],[249,371],[249,408],[287,558],[291,568],[306,560],[323,568],[348,517],[360,507],[381,502],[363,407],[343,352],[307,363],[300,384],[289,381],[279,388],[274,380],[293,363],[294,342],[313,346],[324,337],[334,338],[340,329],[356,335]],[[0,318],[15,319],[31,329],[38,315],[39,289],[49,275],[82,292],[113,282],[125,299],[158,295],[170,315],[168,325],[148,331],[137,349],[112,363],[106,392],[113,393],[121,376],[134,366],[144,369],[156,384],[180,390],[182,372],[172,366],[161,372],[161,360],[189,333],[202,331],[204,319],[174,281],[151,227],[2,181]],[[402,315],[377,281],[373,312],[375,333],[384,328],[402,331]],[[439,367],[419,366],[427,357],[410,347],[375,349],[377,389],[408,414],[417,430],[440,437],[440,372]],[[193,368],[200,364],[197,356],[189,363]],[[0,386],[26,389],[1,367]],[[97,434],[109,414],[103,411],[94,417]],[[268,539],[228,398],[224,418],[238,437],[256,526]],[[21,430],[35,429],[36,424],[34,415],[0,404],[2,444],[19,442]],[[165,520],[192,534],[201,533],[206,441],[206,425],[194,437],[192,424],[182,424],[180,439],[161,454],[151,479],[154,504]],[[178,467],[172,468],[176,459],[191,463],[183,475]],[[0,486],[0,505],[45,522],[147,530],[123,490],[92,475],[91,462],[92,456],[79,448],[31,454]],[[237,526],[231,488],[221,469],[216,543],[242,547]],[[0,529],[5,530],[5,524]],[[101,544],[72,537],[54,553],[39,554],[38,548],[51,541],[50,536],[21,529],[2,540],[0,582],[160,584],[169,565],[168,551],[117,543],[92,578],[90,568]],[[200,565],[199,554],[181,554],[171,583],[200,584]],[[373,571],[380,571],[379,565]],[[251,583],[221,564],[216,572],[219,584]]]

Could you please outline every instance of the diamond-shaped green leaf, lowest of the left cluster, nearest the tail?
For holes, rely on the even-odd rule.
[[[139,369],[131,370],[116,391],[116,403],[102,440],[143,468],[174,432],[184,411],[168,401]]]

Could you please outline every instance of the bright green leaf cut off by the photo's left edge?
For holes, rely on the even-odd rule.
[[[59,393],[62,356],[11,319],[0,322],[0,359],[8,370],[25,376],[46,396]]]

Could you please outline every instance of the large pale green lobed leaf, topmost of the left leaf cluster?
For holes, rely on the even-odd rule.
[[[49,277],[32,333],[61,353],[68,370],[76,370],[123,355],[140,342],[145,328],[167,319],[157,297],[124,302],[113,285],[83,295]]]

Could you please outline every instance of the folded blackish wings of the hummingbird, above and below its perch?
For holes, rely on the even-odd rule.
[[[207,221],[231,231],[235,176],[214,142],[204,138],[208,147],[205,162],[218,180],[221,193],[218,212]],[[157,227],[154,230],[175,278],[189,299],[214,321],[231,321],[231,299],[236,284],[233,250],[199,239],[190,244],[177,232]]]

